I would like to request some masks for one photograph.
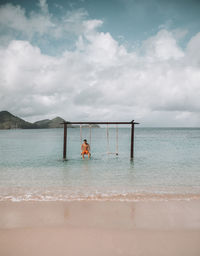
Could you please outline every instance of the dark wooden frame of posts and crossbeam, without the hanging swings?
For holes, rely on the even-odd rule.
[[[139,124],[136,123],[134,120],[132,120],[131,122],[63,122],[62,123],[64,125],[64,138],[63,138],[63,160],[67,160],[67,128],[68,125],[93,125],[93,124],[97,124],[97,125],[101,125],[101,124],[116,124],[116,125],[120,125],[120,124],[126,124],[126,125],[131,125],[131,149],[130,149],[130,158],[131,160],[134,157],[134,130],[135,130],[135,124]]]

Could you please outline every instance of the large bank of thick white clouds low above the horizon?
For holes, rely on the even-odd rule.
[[[49,17],[46,2],[40,6],[40,15]],[[31,120],[60,115],[200,125],[200,34],[183,50],[179,35],[161,29],[130,52],[110,33],[99,32],[103,22],[87,19],[83,10],[62,19],[61,34],[70,27],[77,35],[73,51],[66,47],[62,55],[48,56],[28,40],[0,48],[0,109]]]

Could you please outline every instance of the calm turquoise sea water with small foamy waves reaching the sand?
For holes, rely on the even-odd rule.
[[[115,129],[110,130],[115,151]],[[89,140],[89,129],[83,129]],[[119,155],[107,154],[106,129],[93,128],[90,160],[80,157],[79,129],[0,131],[0,200],[131,199],[199,195],[200,129],[136,128],[130,161],[130,129],[119,129]]]

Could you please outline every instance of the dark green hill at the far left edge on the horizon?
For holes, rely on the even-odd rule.
[[[34,129],[36,125],[12,115],[8,111],[0,112],[0,129]]]

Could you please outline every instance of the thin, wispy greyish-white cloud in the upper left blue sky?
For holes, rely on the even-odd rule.
[[[55,17],[49,13],[46,0],[38,3],[39,12],[27,13],[19,5],[6,4],[0,6],[0,39],[7,36],[10,39],[23,39],[30,42],[46,41],[50,43],[52,38],[71,39],[72,35],[79,35],[84,30],[93,30],[84,23],[88,14],[84,9],[66,11],[61,17]],[[88,25],[91,23],[88,22]],[[99,21],[95,21],[99,22]],[[97,25],[96,25],[97,26]],[[45,39],[46,36],[47,38]]]

